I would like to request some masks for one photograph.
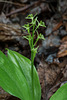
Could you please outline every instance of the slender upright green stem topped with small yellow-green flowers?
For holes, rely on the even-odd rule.
[[[35,15],[36,16],[36,15]],[[34,43],[34,34],[35,32],[37,32],[37,29],[39,28],[39,26],[45,27],[44,22],[42,21],[38,21],[37,17],[35,18],[35,16],[33,16],[32,14],[28,15],[26,17],[26,19],[31,19],[32,22],[25,24],[23,27],[28,31],[27,36],[25,36],[25,38],[29,41],[29,45],[30,45],[30,49],[31,49],[31,80],[32,80],[32,100],[35,100],[35,95],[34,95],[34,72],[33,72],[33,68],[34,68],[34,58],[35,55],[37,53],[37,49],[38,47],[35,47],[36,43],[38,42],[39,39],[43,39],[44,37],[40,34],[37,34],[37,39]],[[38,23],[38,24],[37,24]],[[31,28],[32,28],[32,35],[31,35]]]

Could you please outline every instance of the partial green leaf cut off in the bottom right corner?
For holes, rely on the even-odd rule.
[[[61,86],[50,100],[67,100],[67,83]]]

